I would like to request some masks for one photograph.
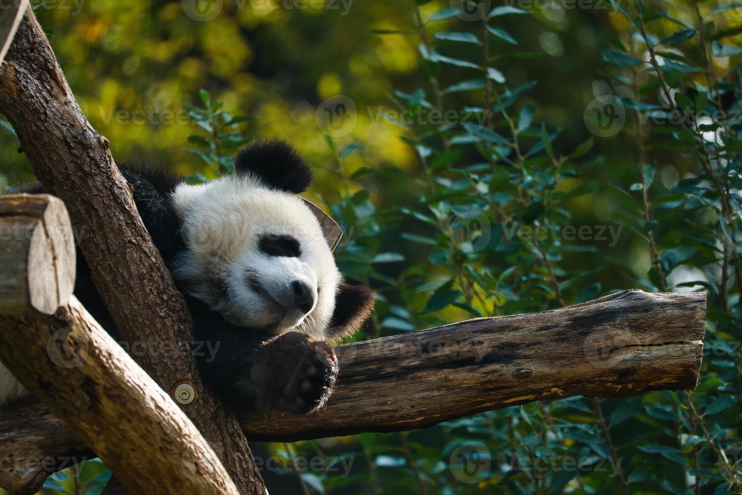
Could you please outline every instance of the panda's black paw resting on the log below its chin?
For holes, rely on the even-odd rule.
[[[332,346],[301,332],[286,332],[261,345],[249,372],[270,410],[292,413],[324,407],[337,377]]]

